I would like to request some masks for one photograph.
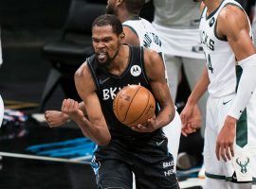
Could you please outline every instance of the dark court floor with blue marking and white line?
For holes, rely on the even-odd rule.
[[[0,140],[0,188],[63,188],[95,187],[90,157],[94,144],[82,137],[74,123],[49,129],[46,123],[28,118],[23,136]],[[10,131],[9,131],[10,133]],[[178,171],[181,188],[201,188],[199,168]]]

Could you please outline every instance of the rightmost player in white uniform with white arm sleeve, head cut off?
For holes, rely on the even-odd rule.
[[[204,188],[255,188],[256,52],[251,27],[236,1],[203,3],[200,33],[207,64],[181,118],[184,123],[191,118],[194,104],[208,89]]]

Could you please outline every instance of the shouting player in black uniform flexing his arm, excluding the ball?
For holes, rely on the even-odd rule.
[[[88,119],[72,99],[64,100],[62,112],[99,145],[92,161],[98,188],[132,188],[132,172],[137,188],[179,188],[173,157],[168,155],[167,138],[161,130],[174,119],[164,63],[155,51],[123,44],[123,38],[116,16],[105,14],[94,21],[95,55],[75,74]],[[129,84],[149,89],[160,107],[155,118],[132,129],[122,125],[113,112],[115,94]]]

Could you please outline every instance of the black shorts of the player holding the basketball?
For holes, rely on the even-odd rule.
[[[178,189],[173,156],[160,132],[150,139],[112,140],[95,153],[92,167],[99,189]]]

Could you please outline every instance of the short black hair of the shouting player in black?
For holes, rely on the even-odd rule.
[[[123,32],[122,25],[118,17],[112,14],[103,14],[97,17],[92,24],[92,28],[94,26],[112,26],[113,32],[117,35]]]

